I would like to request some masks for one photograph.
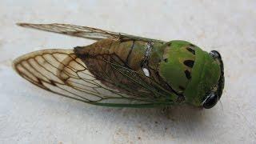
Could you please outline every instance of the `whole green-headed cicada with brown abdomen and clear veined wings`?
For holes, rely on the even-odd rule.
[[[87,26],[19,26],[95,40],[73,50],[38,50],[14,69],[42,89],[98,106],[153,107],[188,103],[213,107],[221,98],[221,55],[186,41],[141,38]]]

